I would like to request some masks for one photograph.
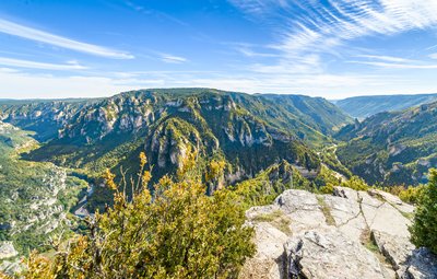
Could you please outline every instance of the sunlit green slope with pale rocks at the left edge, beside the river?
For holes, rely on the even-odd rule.
[[[87,186],[51,163],[21,160],[20,152],[37,148],[31,135],[0,121],[0,241],[20,255],[44,249],[47,235],[70,226],[69,209]]]

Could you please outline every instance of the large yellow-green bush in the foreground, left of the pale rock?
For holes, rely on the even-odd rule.
[[[114,207],[87,219],[88,233],[57,245],[52,259],[33,254],[25,278],[237,277],[255,253],[253,230],[244,225],[238,197],[227,189],[205,196],[204,185],[189,175],[192,162],[185,162],[178,179],[162,178],[152,193],[143,153],[140,160],[135,181],[123,177],[117,185],[107,172]]]

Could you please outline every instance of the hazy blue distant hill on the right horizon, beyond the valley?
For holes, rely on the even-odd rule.
[[[434,101],[437,101],[437,94],[357,96],[332,103],[352,117],[363,119],[378,113],[403,111]]]

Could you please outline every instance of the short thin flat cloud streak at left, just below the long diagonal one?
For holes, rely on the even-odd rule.
[[[0,65],[27,69],[42,69],[42,70],[84,70],[84,66],[79,65],[76,61],[69,61],[67,63],[46,63],[28,60],[20,60],[7,57],[0,57]]]

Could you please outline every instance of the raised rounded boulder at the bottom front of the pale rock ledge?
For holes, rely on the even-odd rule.
[[[285,251],[288,268],[284,278],[385,278],[378,258],[336,230],[292,237]]]

